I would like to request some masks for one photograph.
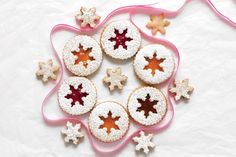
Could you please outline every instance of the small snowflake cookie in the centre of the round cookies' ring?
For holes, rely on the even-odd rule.
[[[105,83],[109,84],[110,91],[113,91],[115,87],[118,87],[119,89],[123,89],[124,82],[127,81],[128,77],[121,74],[121,68],[118,67],[115,70],[107,69],[107,75],[103,78],[103,81]]]

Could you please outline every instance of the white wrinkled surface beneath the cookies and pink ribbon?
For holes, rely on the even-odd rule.
[[[166,9],[177,9],[183,0],[159,0]],[[158,1],[158,2],[159,2]],[[143,1],[144,2],[144,1]],[[49,43],[50,29],[58,23],[75,25],[80,6],[97,7],[103,18],[113,9],[142,0],[1,0],[0,5],[0,156],[4,157],[76,157],[96,156],[85,137],[78,146],[65,145],[60,135],[63,126],[47,126],[40,107],[53,87],[35,77],[37,62],[53,58]],[[156,0],[146,0],[153,3]],[[214,0],[225,14],[236,17],[236,3]],[[140,24],[148,16],[137,17]],[[120,15],[114,19],[125,19]],[[236,156],[236,31],[223,23],[203,1],[190,2],[167,28],[166,38],[180,50],[177,78],[190,78],[195,87],[188,103],[175,106],[170,128],[157,134],[155,157],[234,157]],[[61,53],[73,34],[61,32],[54,42]],[[95,36],[98,39],[99,33]],[[145,42],[143,43],[145,45]],[[100,70],[90,77],[99,90],[99,101],[116,100],[123,104],[129,93],[140,86],[131,68],[131,60],[117,62],[105,56]],[[122,92],[112,95],[102,84],[106,68],[121,66],[129,76]],[[48,107],[50,117],[62,116],[54,95]],[[117,156],[136,154],[130,143]]]

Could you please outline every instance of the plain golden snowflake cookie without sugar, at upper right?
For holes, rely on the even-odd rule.
[[[164,14],[160,14],[159,16],[151,15],[146,27],[152,30],[152,35],[156,35],[158,31],[161,34],[166,34],[165,27],[169,25],[170,22],[165,20]]]

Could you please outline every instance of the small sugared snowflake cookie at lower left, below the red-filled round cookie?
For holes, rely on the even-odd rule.
[[[70,140],[73,141],[74,144],[79,143],[79,138],[84,137],[84,135],[79,131],[80,130],[80,124],[73,124],[71,122],[66,123],[67,129],[63,129],[61,133],[65,135],[64,141],[70,142]]]

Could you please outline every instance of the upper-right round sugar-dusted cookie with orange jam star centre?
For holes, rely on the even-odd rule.
[[[148,84],[160,84],[170,78],[175,60],[167,48],[152,44],[143,47],[135,56],[134,70]]]

